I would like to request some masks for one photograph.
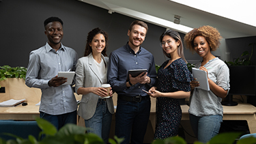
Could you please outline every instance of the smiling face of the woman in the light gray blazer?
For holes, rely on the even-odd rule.
[[[89,46],[91,46],[93,54],[101,53],[106,46],[104,35],[102,35],[101,33],[96,34],[94,38],[91,40]]]

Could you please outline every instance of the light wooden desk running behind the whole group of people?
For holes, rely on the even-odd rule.
[[[156,127],[156,99],[152,98],[150,122]],[[39,117],[38,102],[28,102],[27,106],[0,107],[0,119],[34,120]],[[182,105],[182,120],[189,120],[189,106]],[[256,133],[256,107],[251,104],[238,103],[237,106],[223,106],[223,120],[246,120],[251,133]]]

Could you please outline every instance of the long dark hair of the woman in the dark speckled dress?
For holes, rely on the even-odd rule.
[[[173,38],[175,40],[175,42],[180,41],[180,46],[177,47],[177,55],[179,55],[180,57],[182,57],[182,59],[184,59],[184,61],[187,63],[185,56],[184,56],[184,52],[183,52],[183,44],[182,44],[182,38],[180,38],[180,34],[177,31],[173,31],[171,29],[165,31],[164,33],[162,33],[162,35],[160,36],[160,42],[162,42],[162,38],[164,38],[165,35],[169,35],[171,38]],[[162,52],[165,54],[165,56],[171,58],[171,55],[167,54],[163,49]]]

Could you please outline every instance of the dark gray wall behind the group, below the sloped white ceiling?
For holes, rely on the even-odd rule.
[[[44,34],[43,22],[50,16],[57,16],[63,20],[63,45],[70,46],[83,57],[87,33],[96,27],[109,33],[109,47],[107,54],[128,42],[128,27],[134,18],[122,14],[109,14],[108,10],[77,0],[2,0],[0,2],[0,66],[27,67],[29,53],[47,42]],[[221,22],[220,22],[221,23]],[[159,46],[159,37],[166,29],[147,23],[149,31],[142,46],[150,51],[156,64],[167,60]],[[210,24],[209,24],[210,25]],[[200,27],[200,23],[198,27]],[[182,39],[184,33],[180,33]],[[255,33],[256,35],[256,33]],[[223,60],[232,61],[242,52],[249,51],[248,44],[256,42],[256,36],[247,38],[223,39],[218,55]],[[226,52],[230,52],[228,56]],[[187,60],[201,59],[184,48]],[[253,62],[255,63],[255,54]]]

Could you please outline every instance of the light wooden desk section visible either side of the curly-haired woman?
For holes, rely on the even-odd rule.
[[[182,120],[189,120],[189,106],[182,105]],[[256,133],[256,107],[247,103],[223,106],[223,120],[246,120],[251,133]]]

